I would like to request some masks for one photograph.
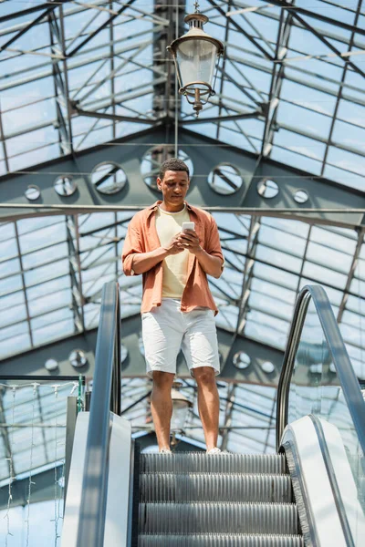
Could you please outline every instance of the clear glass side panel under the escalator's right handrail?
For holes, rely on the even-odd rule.
[[[340,349],[339,349],[340,351]],[[288,422],[309,414],[336,426],[342,439],[349,469],[358,490],[358,499],[349,500],[348,492],[340,488],[346,516],[354,545],[360,545],[357,523],[364,519],[365,504],[362,499],[364,455],[352,421],[347,401],[333,362],[330,346],[320,324],[315,304],[311,300],[297,347],[294,373],[289,392]],[[330,449],[330,447],[329,447]],[[339,450],[337,449],[336,452]],[[338,454],[329,453],[330,457]]]

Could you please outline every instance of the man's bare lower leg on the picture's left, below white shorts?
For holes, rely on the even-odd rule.
[[[173,377],[171,372],[153,372],[151,412],[160,450],[170,450]]]

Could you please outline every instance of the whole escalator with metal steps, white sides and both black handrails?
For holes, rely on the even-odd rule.
[[[62,547],[364,544],[365,403],[321,287],[305,287],[297,299],[277,390],[274,455],[140,454],[120,417],[117,284],[105,285],[102,301]]]

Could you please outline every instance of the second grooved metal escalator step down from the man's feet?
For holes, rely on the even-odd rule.
[[[142,473],[140,480],[140,501],[292,501],[288,475]]]

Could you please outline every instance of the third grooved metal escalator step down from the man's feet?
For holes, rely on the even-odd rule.
[[[140,503],[140,533],[297,534],[294,503]]]

